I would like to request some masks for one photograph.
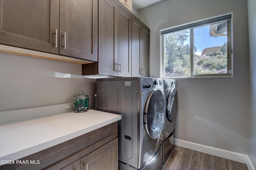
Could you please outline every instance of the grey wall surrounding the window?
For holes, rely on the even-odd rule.
[[[150,28],[150,76],[160,77],[160,29],[233,12],[233,77],[177,78],[176,138],[248,154],[250,76],[244,0],[162,0],[138,11]]]

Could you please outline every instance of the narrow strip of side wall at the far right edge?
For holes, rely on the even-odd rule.
[[[250,70],[251,70],[251,115],[249,157],[256,167],[256,0],[248,0],[249,42],[250,42]]]

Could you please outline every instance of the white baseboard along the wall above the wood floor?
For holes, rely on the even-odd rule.
[[[186,149],[196,150],[198,152],[211,154],[211,155],[218,156],[221,158],[234,160],[236,162],[242,162],[247,165],[249,170],[255,170],[250,158],[248,157],[248,155],[245,155],[245,154],[231,152],[228,150],[218,149],[218,148],[214,148],[214,147],[208,147],[205,145],[200,145],[197,143],[183,141],[180,139],[175,139],[175,145],[178,147],[186,148]]]

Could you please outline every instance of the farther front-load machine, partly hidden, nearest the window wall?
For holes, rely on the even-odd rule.
[[[176,91],[176,81],[163,79],[164,94],[166,98],[166,113],[164,120],[164,128],[162,131],[163,141],[163,164],[175,147],[175,122],[178,111],[178,94]]]

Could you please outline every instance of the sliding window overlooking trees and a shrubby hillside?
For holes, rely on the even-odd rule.
[[[231,35],[231,15],[161,31],[162,76],[231,76]]]

